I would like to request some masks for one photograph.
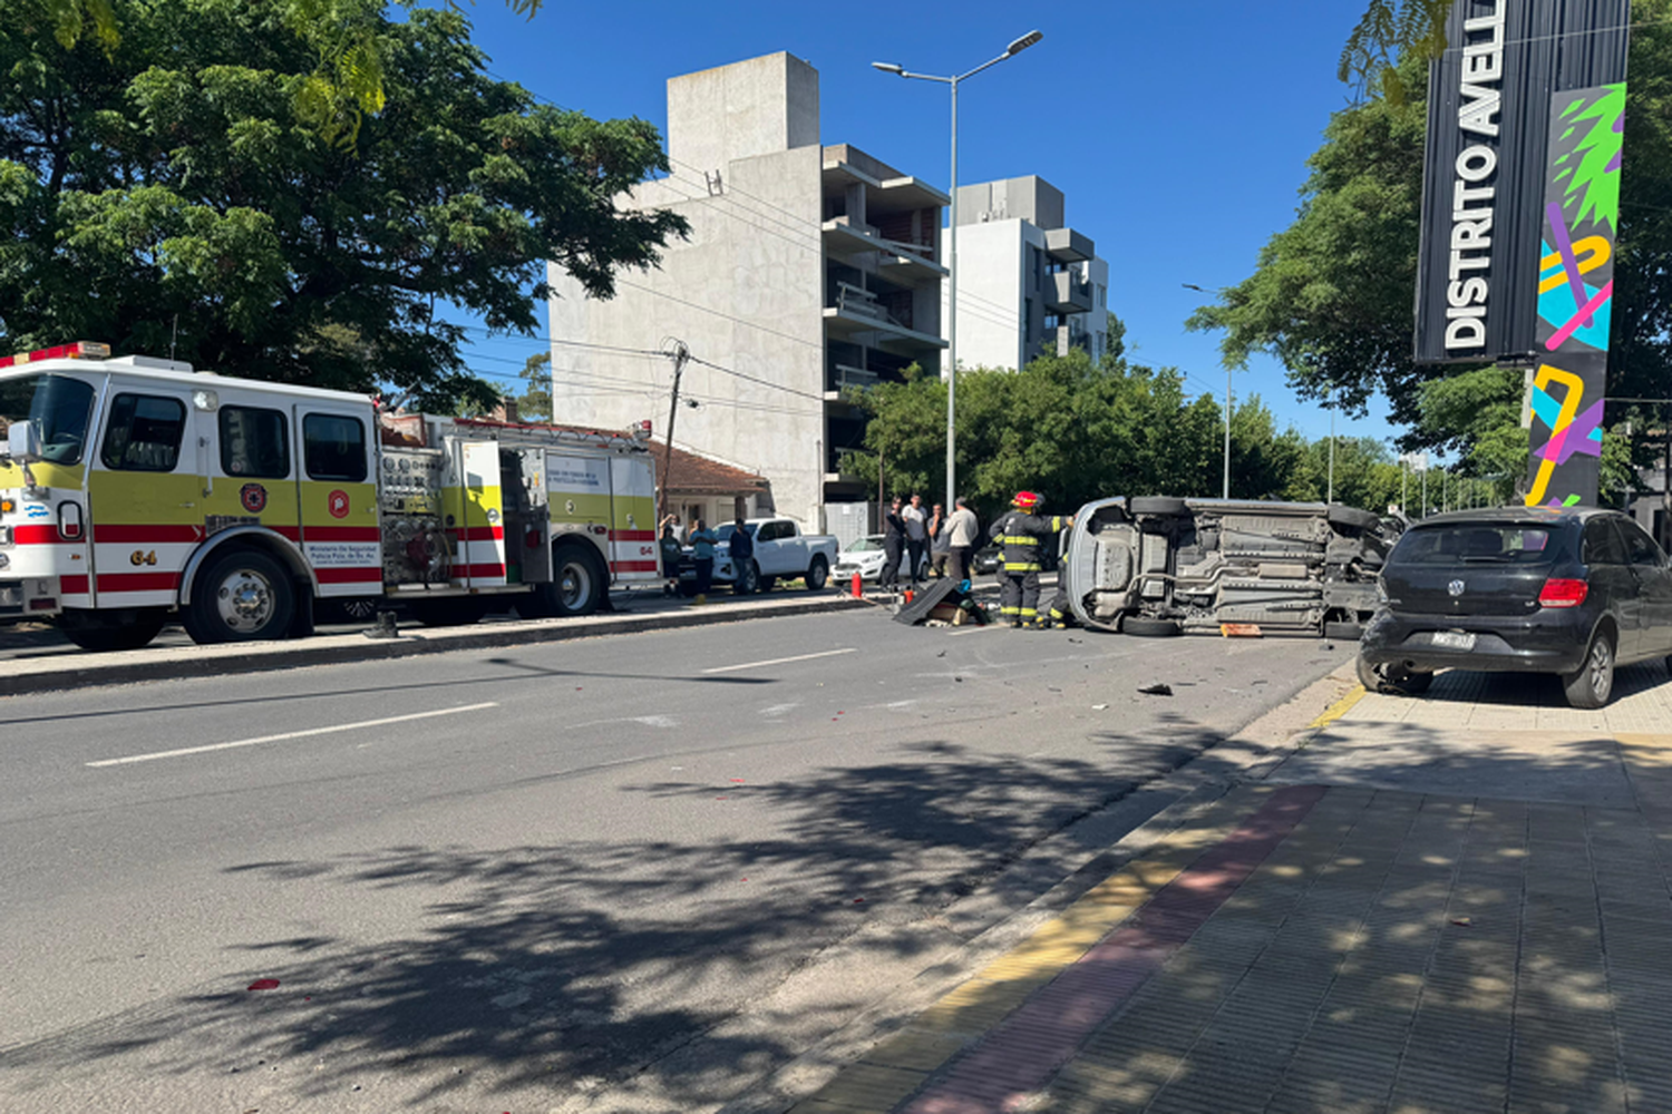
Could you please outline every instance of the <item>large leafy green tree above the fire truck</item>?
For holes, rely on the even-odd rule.
[[[644,120],[597,122],[487,75],[455,10],[375,33],[381,109],[353,150],[299,107],[301,0],[110,0],[120,38],[65,47],[55,0],[0,8],[0,342],[105,339],[263,379],[492,404],[461,306],[533,334],[545,261],[609,297],[686,232],[615,197],[665,169]],[[313,0],[309,0],[313,2]],[[85,8],[84,8],[85,10]],[[353,337],[353,342],[344,342]]]

